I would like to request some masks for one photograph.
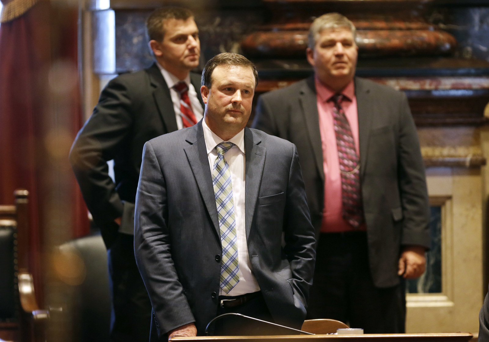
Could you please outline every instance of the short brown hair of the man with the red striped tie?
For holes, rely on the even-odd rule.
[[[168,19],[187,20],[194,18],[194,13],[191,10],[183,7],[161,7],[151,12],[146,19],[146,33],[148,39],[161,42],[165,36],[164,22]]]

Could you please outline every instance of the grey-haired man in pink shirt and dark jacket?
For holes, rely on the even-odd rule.
[[[308,318],[402,333],[404,278],[424,272],[428,195],[406,96],[354,77],[355,26],[317,18],[314,76],[258,100],[254,127],[297,146],[317,259]]]

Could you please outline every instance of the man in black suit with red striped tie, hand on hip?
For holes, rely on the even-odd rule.
[[[199,30],[192,12],[154,11],[146,22],[156,63],[120,75],[102,91],[80,130],[70,162],[108,249],[111,341],[148,341],[151,303],[134,260],[133,222],[143,145],[196,123],[203,114]],[[115,183],[108,160],[114,160]]]

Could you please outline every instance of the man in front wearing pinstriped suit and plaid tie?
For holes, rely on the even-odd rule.
[[[224,313],[293,328],[306,317],[315,240],[304,182],[292,143],[245,127],[256,83],[243,56],[215,56],[204,119],[144,146],[134,251],[151,341],[202,335]],[[221,322],[214,333],[250,329]]]

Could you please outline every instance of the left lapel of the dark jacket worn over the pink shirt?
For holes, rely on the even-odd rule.
[[[321,133],[319,132],[319,113],[317,111],[316,87],[314,85],[314,76],[306,80],[306,84],[300,91],[299,101],[302,105],[302,114],[306,121],[306,127],[311,140],[316,167],[319,175],[324,182],[323,169],[323,149],[321,143]]]

